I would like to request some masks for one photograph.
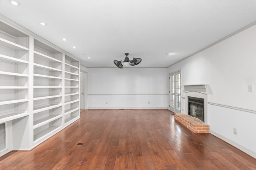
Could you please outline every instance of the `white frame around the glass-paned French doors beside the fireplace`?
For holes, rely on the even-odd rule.
[[[175,104],[176,104],[176,91],[174,91],[174,93],[175,93],[175,95],[174,95],[174,107],[171,107],[170,105],[170,100],[171,100],[171,93],[170,93],[170,76],[173,74],[174,75],[174,90],[176,89],[176,78],[175,78],[175,76],[176,76],[176,73],[180,73],[180,109],[176,109],[176,106],[175,106]],[[174,113],[181,113],[181,105],[182,105],[182,103],[181,103],[181,70],[176,70],[176,71],[174,71],[174,72],[171,72],[171,73],[169,73],[169,81],[168,81],[168,88],[169,88],[169,110],[170,111],[172,111],[172,112],[174,112]]]

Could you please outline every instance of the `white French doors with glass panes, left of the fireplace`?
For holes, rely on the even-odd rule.
[[[180,71],[170,74],[170,111],[180,113]]]

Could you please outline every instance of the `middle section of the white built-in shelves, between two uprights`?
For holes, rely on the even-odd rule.
[[[62,53],[37,39],[33,94],[34,141],[40,141],[62,125]]]

